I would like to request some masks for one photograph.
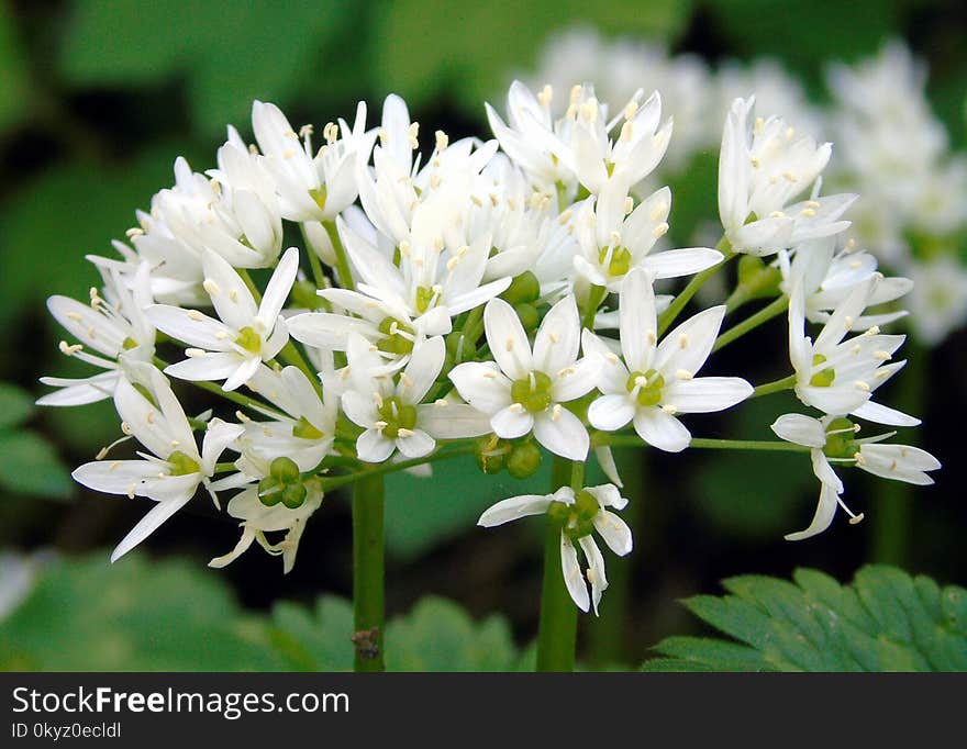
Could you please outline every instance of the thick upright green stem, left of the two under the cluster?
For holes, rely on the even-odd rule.
[[[353,647],[355,671],[382,671],[384,484],[369,476],[353,488]]]

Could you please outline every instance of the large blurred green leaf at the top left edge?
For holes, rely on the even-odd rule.
[[[247,120],[252,99],[284,103],[307,78],[324,76],[320,52],[346,31],[349,9],[346,0],[231,10],[193,0],[78,0],[60,68],[81,86],[134,87],[187,74],[196,124],[222,132]]]

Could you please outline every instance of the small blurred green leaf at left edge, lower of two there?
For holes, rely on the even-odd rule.
[[[54,448],[33,432],[0,433],[0,487],[51,500],[67,499],[74,491]]]

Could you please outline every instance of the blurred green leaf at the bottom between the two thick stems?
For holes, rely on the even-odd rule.
[[[502,616],[474,622],[456,604],[429,596],[386,628],[390,671],[514,671],[519,655]]]

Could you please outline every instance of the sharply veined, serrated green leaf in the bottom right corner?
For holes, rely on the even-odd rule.
[[[689,610],[735,640],[668,638],[647,671],[963,671],[967,591],[941,589],[894,567],[868,566],[848,585],[815,570],[793,582],[742,575],[730,594],[699,595]]]

